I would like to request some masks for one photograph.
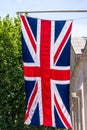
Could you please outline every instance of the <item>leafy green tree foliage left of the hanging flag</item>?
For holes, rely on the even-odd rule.
[[[0,130],[57,130],[24,125],[20,18],[0,19]]]

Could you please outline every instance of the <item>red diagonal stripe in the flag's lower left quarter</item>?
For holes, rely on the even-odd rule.
[[[31,108],[32,103],[33,103],[33,101],[34,101],[34,99],[35,99],[35,96],[36,96],[37,91],[38,91],[38,84],[36,83],[35,89],[34,89],[34,91],[33,91],[33,93],[32,93],[32,96],[31,96],[29,102],[28,102],[27,111],[26,111],[26,114],[25,114],[25,121],[26,121],[27,118],[29,117],[30,108]]]

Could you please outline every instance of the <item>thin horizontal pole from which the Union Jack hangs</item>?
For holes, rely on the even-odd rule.
[[[44,10],[44,11],[18,11],[17,14],[24,13],[87,13],[87,10]]]

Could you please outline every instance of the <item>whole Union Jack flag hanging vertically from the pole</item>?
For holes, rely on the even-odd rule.
[[[72,21],[21,16],[24,123],[72,128],[69,106]]]

